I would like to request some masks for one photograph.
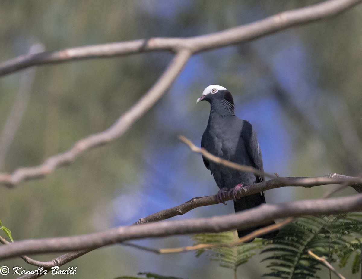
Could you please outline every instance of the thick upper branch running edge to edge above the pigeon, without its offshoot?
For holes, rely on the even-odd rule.
[[[18,56],[0,64],[0,76],[34,66],[67,61],[106,58],[150,51],[189,50],[191,53],[239,44],[286,28],[335,16],[362,0],[328,0],[309,7],[282,12],[239,27],[189,38],[151,38],[99,44]]]

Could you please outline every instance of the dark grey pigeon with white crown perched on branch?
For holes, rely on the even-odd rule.
[[[209,122],[202,135],[201,147],[220,158],[264,171],[256,133],[248,121],[241,120],[235,115],[234,100],[231,93],[223,86],[210,85],[206,87],[202,96],[198,98],[196,102],[198,103],[203,100],[210,103],[211,110]],[[235,212],[251,209],[265,203],[264,192],[251,194],[238,199],[235,198],[235,194],[240,187],[264,181],[264,175],[238,171],[212,162],[204,156],[202,156],[202,159],[220,188],[217,194],[219,202],[225,204],[223,201],[224,195],[226,193],[232,193]],[[243,237],[256,229],[271,224],[275,224],[275,222],[273,221],[270,224],[248,229],[240,228],[237,230],[237,235]],[[277,234],[278,231],[273,231],[260,237],[270,239]]]

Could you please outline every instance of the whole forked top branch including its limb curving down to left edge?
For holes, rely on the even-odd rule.
[[[165,93],[181,72],[188,58],[198,52],[247,42],[286,28],[335,16],[362,0],[328,0],[309,7],[275,14],[239,27],[189,38],[151,38],[129,42],[100,44],[68,48],[55,52],[24,55],[0,64],[0,76],[35,65],[55,64],[82,59],[94,59],[130,55],[150,51],[177,53],[163,76],[128,112],[109,129],[81,139],[68,151],[52,156],[36,167],[18,168],[12,174],[0,173],[0,184],[14,186],[26,179],[43,177],[56,167],[71,163],[84,151],[119,138],[122,134]]]

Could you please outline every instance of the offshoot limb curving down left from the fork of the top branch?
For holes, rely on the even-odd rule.
[[[165,93],[190,57],[190,52],[183,50],[177,53],[171,64],[159,80],[151,87],[133,107],[123,114],[116,123],[107,130],[90,135],[77,141],[73,147],[45,160],[40,166],[19,168],[13,174],[0,173],[0,184],[14,186],[25,179],[36,179],[54,171],[55,168],[73,162],[85,150],[110,142],[122,136],[123,133]]]

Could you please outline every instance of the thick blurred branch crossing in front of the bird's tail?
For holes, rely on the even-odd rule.
[[[0,259],[24,254],[95,249],[131,239],[188,235],[191,233],[224,232],[262,225],[275,218],[303,215],[330,215],[362,210],[362,195],[313,199],[277,205],[263,204],[240,213],[177,221],[162,221],[139,226],[108,229],[87,235],[16,241],[0,247]]]

